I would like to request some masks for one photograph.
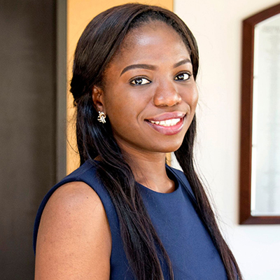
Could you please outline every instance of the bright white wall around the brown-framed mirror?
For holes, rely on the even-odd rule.
[[[174,0],[200,48],[197,160],[246,280],[280,279],[280,225],[239,225],[241,22],[279,0]]]

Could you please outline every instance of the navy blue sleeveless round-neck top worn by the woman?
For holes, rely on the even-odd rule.
[[[98,164],[96,162],[96,164]],[[176,280],[226,280],[225,267],[204,223],[195,211],[196,202],[190,185],[183,172],[167,166],[169,178],[176,184],[173,193],[157,193],[138,185],[151,221],[158,232],[163,246],[169,255]],[[52,193],[65,183],[83,181],[99,195],[109,220],[112,236],[111,280],[134,279],[128,265],[116,209],[96,174],[96,166],[91,162],[76,169],[57,183],[45,195],[38,209],[34,225],[34,252],[38,226],[45,204]],[[165,279],[169,279],[167,266],[162,262]]]

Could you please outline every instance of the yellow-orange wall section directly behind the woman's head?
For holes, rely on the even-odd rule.
[[[117,6],[123,3],[130,3],[131,0],[69,0],[67,2],[67,69],[68,85],[71,79],[71,69],[73,64],[73,52],[76,43],[83,29],[95,15],[103,10]],[[169,10],[173,10],[173,0],[146,0],[137,1],[139,3],[148,3],[158,5]],[[73,99],[68,90],[67,93],[67,153],[66,153],[66,172],[69,174],[79,166],[79,158],[76,148],[75,123],[73,120]]]

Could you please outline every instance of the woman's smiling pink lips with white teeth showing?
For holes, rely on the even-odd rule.
[[[174,135],[183,129],[186,113],[171,112],[160,116],[146,119],[146,122],[153,130],[165,135]]]

